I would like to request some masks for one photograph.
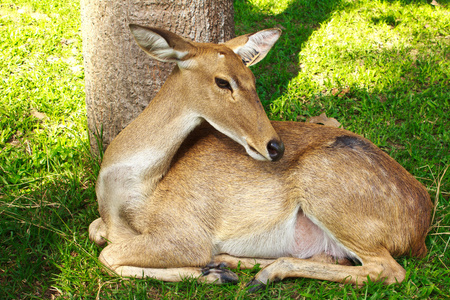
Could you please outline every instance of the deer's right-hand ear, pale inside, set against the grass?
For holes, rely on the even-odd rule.
[[[225,45],[231,48],[242,58],[249,67],[261,61],[278,40],[281,30],[278,28],[266,29],[253,34],[238,36],[229,40]]]

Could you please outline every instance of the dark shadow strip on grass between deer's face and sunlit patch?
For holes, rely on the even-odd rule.
[[[235,1],[236,35],[278,27],[283,30],[279,41],[263,63],[252,67],[257,78],[258,94],[265,107],[281,96],[290,80],[299,72],[298,53],[311,34],[328,20],[341,0],[292,1],[278,14],[269,13],[244,1]],[[264,86],[258,85],[264,82]]]

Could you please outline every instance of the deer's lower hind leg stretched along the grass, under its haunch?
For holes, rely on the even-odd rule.
[[[305,277],[362,285],[369,277],[372,281],[384,280],[386,284],[402,282],[405,269],[386,249],[375,256],[358,255],[362,266],[347,266],[317,262],[310,259],[283,257],[262,269],[249,283],[251,290],[287,277]]]

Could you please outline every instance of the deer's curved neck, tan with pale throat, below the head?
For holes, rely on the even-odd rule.
[[[134,176],[145,178],[147,190],[164,176],[181,143],[201,122],[184,104],[189,96],[183,92],[186,87],[177,84],[180,74],[174,73],[149,106],[114,139],[103,160],[102,168],[131,168]]]

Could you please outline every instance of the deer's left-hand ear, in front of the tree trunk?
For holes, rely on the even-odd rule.
[[[135,24],[129,26],[138,45],[156,60],[180,62],[195,50],[191,43],[170,31]]]

